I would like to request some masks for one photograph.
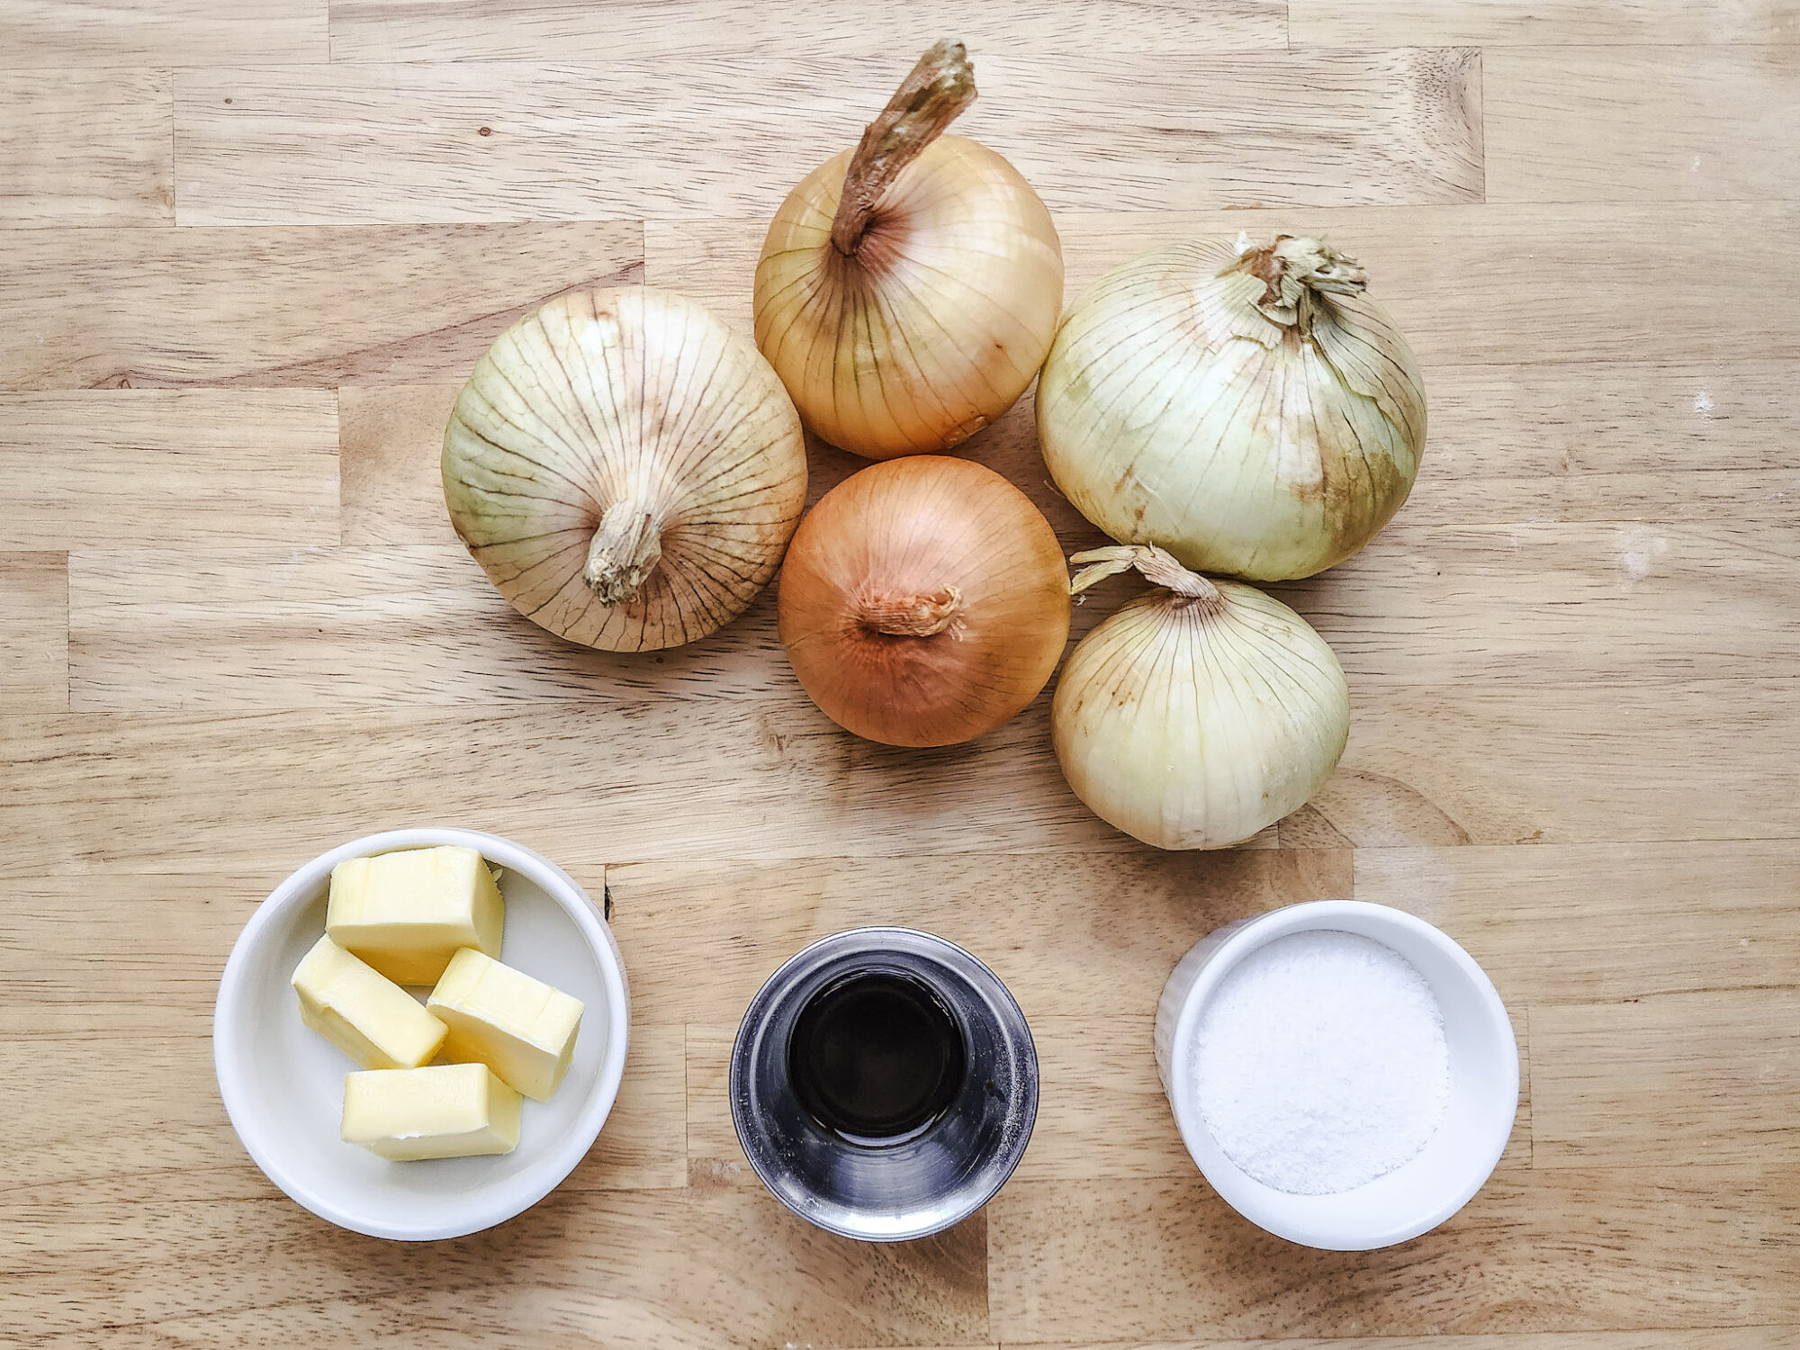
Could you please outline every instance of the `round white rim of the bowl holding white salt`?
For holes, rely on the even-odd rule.
[[[1193,1157],[1195,1165],[1201,1168],[1201,1175],[1204,1175],[1206,1183],[1219,1193],[1219,1197],[1244,1219],[1280,1238],[1298,1242],[1307,1247],[1319,1247],[1323,1251],[1373,1251],[1377,1247],[1391,1247],[1399,1242],[1409,1242],[1422,1233],[1429,1233],[1474,1199],[1476,1192],[1487,1184],[1494,1168],[1499,1165],[1499,1157],[1507,1150],[1507,1141],[1512,1138],[1512,1127],[1519,1112],[1519,1042],[1512,1031],[1512,1019],[1507,1015],[1507,1004],[1501,1001],[1499,990],[1494,988],[1494,981],[1489,979],[1487,972],[1472,956],[1469,956],[1467,950],[1463,950],[1462,943],[1447,932],[1433,923],[1427,923],[1417,914],[1406,913],[1404,909],[1377,905],[1370,900],[1301,900],[1298,904],[1282,905],[1280,909],[1271,909],[1264,914],[1253,914],[1244,920],[1240,927],[1219,943],[1219,947],[1208,952],[1204,967],[1183,997],[1181,1015],[1175,1021],[1175,1031],[1170,1039],[1170,1105],[1174,1107],[1175,1102],[1193,1100],[1190,1091],[1192,1057],[1183,1053],[1183,1048],[1193,1042],[1201,1010],[1206,1006],[1206,1001],[1211,997],[1219,981],[1222,981],[1258,947],[1294,932],[1350,931],[1381,941],[1375,932],[1343,929],[1341,923],[1345,920],[1363,920],[1373,931],[1386,927],[1390,932],[1411,932],[1431,943],[1431,947],[1449,958],[1451,965],[1467,981],[1471,992],[1476,995],[1476,1001],[1481,1004],[1489,1030],[1496,1035],[1499,1044],[1510,1051],[1503,1057],[1508,1076],[1501,1085],[1501,1096],[1510,1103],[1510,1107],[1505,1112],[1496,1112],[1490,1120],[1490,1132],[1485,1139],[1485,1147],[1476,1154],[1480,1166],[1471,1170],[1467,1183],[1435,1210],[1424,1211],[1413,1222],[1400,1224],[1393,1229],[1348,1233],[1300,1228],[1269,1213],[1269,1206],[1264,1202],[1269,1188],[1224,1157],[1219,1143],[1211,1138],[1206,1123],[1201,1120],[1199,1111],[1188,1111],[1183,1114],[1183,1111],[1175,1109],[1174,1114],[1175,1127],[1181,1130],[1181,1139],[1188,1147],[1188,1154]],[[1204,1136],[1204,1139],[1199,1136]],[[1222,1159],[1222,1166],[1208,1168],[1208,1156]]]

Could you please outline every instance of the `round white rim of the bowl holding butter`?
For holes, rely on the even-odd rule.
[[[461,844],[477,850],[488,862],[509,868],[536,882],[562,909],[574,920],[594,950],[599,976],[607,986],[607,1053],[599,1064],[599,1078],[587,1107],[576,1118],[558,1145],[549,1150],[549,1181],[517,1188],[499,1188],[486,1202],[470,1202],[466,1215],[452,1224],[421,1226],[396,1220],[371,1220],[365,1215],[349,1213],[326,1197],[313,1192],[265,1145],[256,1112],[250,1107],[248,1089],[238,1080],[236,1069],[229,1067],[243,1053],[243,1033],[236,1017],[229,1010],[245,997],[250,952],[266,934],[286,918],[288,911],[302,902],[310,904],[317,887],[331,877],[331,868],[346,859],[369,853],[391,853],[401,848],[430,848],[432,844]],[[250,1159],[263,1170],[288,1199],[310,1210],[320,1219],[347,1228],[367,1237],[392,1238],[398,1242],[436,1242],[441,1238],[468,1237],[484,1228],[504,1224],[508,1219],[524,1213],[533,1204],[560,1186],[576,1165],[594,1147],[607,1116],[619,1096],[619,1082],[625,1078],[625,1057],[630,1040],[630,988],[625,979],[625,956],[612,936],[612,927],[601,918],[592,896],[569,873],[545,859],[542,853],[526,848],[502,835],[481,830],[461,830],[454,826],[416,826],[409,830],[383,830],[364,835],[347,844],[320,853],[311,862],[297,868],[286,877],[268,898],[256,907],[250,920],[232,943],[230,958],[225,961],[225,974],[220,977],[218,999],[212,1004],[212,1073],[218,1078],[220,1098],[225,1102],[225,1114],[232,1130]]]

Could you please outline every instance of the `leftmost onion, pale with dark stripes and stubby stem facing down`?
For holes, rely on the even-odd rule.
[[[781,382],[693,301],[563,295],[513,324],[445,432],[457,535],[513,608],[574,643],[691,643],[774,576],[806,499]]]

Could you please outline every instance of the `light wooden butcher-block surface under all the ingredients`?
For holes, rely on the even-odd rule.
[[[1102,826],[1046,700],[850,740],[772,596],[565,646],[446,526],[488,342],[625,281],[747,328],[781,194],[940,31],[1071,295],[1328,230],[1426,371],[1406,511],[1280,589],[1350,749],[1247,848]],[[0,0],[0,1343],[1800,1346],[1796,144],[1791,0]],[[1093,542],[1030,398],[968,452]],[[250,1165],[209,1017],[283,875],[432,821],[610,893],[635,1030],[565,1186],[403,1249]],[[1462,940],[1526,1067],[1492,1183],[1372,1255],[1238,1220],[1150,1057],[1195,938],[1341,895]],[[1044,1066],[1015,1179],[902,1247],[787,1215],[722,1091],[758,983],[862,922],[990,961]]]

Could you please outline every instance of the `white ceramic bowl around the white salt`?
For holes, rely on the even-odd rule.
[[[1386,943],[1431,985],[1444,1012],[1451,1100],[1426,1148],[1393,1172],[1336,1195],[1289,1195],[1226,1157],[1199,1109],[1193,1039],[1201,1010],[1238,961],[1291,932],[1355,932]],[[1310,900],[1226,923],[1181,958],[1156,1010],[1156,1064],[1181,1138],[1224,1201],[1258,1228],[1327,1251],[1406,1242],[1463,1208],[1494,1172],[1519,1109],[1519,1046],[1494,983],[1462,947],[1399,909]]]

